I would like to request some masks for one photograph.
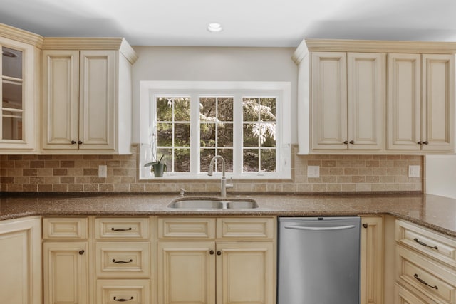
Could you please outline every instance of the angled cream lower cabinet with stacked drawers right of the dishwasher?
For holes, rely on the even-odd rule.
[[[396,220],[395,241],[395,304],[456,303],[455,239]]]

